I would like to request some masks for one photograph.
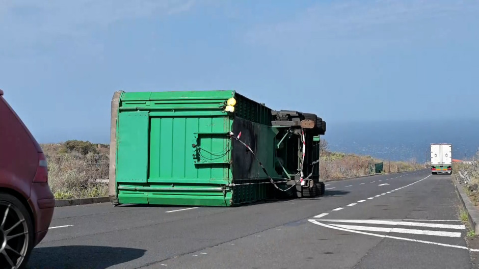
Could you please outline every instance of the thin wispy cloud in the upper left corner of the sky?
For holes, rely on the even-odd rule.
[[[188,12],[194,0],[0,0],[0,34],[26,45],[78,38],[127,19]]]

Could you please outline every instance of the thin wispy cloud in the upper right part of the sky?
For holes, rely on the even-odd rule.
[[[249,43],[267,46],[333,41],[410,41],[444,36],[455,30],[449,22],[475,17],[479,2],[364,1],[317,4],[289,21],[260,25],[249,31]]]

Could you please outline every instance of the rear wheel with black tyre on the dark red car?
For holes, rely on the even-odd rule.
[[[4,220],[5,223],[3,223]],[[0,252],[3,251],[1,246],[4,243],[8,243],[9,248],[14,249],[21,255],[17,255],[12,251],[7,251],[8,259],[4,255],[0,255],[0,268],[3,269],[3,266],[7,266],[5,268],[15,266],[19,269],[24,268],[29,260],[34,244],[33,220],[25,205],[18,198],[7,193],[0,193],[0,234],[2,233],[20,235],[9,240],[1,236]],[[10,266],[11,262],[14,263],[13,266]]]

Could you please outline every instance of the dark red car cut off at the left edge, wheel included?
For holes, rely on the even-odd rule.
[[[0,268],[22,268],[45,237],[55,198],[45,155],[0,90]]]

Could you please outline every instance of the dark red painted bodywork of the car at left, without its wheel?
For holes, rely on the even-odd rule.
[[[0,207],[0,221],[4,217],[13,218],[14,212],[18,216],[22,211],[28,212],[29,216],[23,217],[29,219],[32,226],[29,229],[33,231],[28,237],[28,253],[25,253],[30,254],[48,232],[55,198],[48,185],[47,162],[42,148],[3,95],[0,90],[0,202],[4,205],[3,210]],[[17,211],[5,209],[15,208],[15,205]],[[2,229],[0,246],[2,238],[7,238],[1,233]],[[19,261],[15,266],[21,267],[25,262]]]

